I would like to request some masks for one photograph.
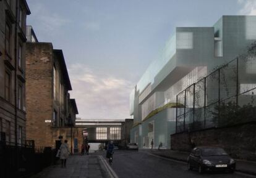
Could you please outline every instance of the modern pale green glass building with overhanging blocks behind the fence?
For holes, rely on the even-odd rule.
[[[150,64],[130,94],[130,115],[134,117],[130,142],[149,148],[153,139],[155,148],[160,142],[170,148],[170,134],[176,131],[177,94],[244,54],[255,40],[256,16],[225,15],[211,27],[177,27],[162,56]],[[256,65],[248,70],[256,71]],[[212,98],[214,85],[207,86],[211,86]],[[195,108],[193,99],[186,98],[186,107]]]

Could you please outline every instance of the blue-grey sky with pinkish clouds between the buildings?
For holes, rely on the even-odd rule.
[[[62,49],[82,119],[125,119],[129,94],[176,26],[256,15],[256,0],[27,0],[40,42]]]

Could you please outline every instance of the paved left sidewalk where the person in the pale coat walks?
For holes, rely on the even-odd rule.
[[[30,178],[103,178],[109,177],[97,155],[72,155],[67,159],[67,168],[61,163],[50,166]]]

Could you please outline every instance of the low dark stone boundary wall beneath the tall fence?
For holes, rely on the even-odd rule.
[[[190,152],[195,146],[222,147],[234,158],[256,161],[256,123],[171,135],[171,149]]]

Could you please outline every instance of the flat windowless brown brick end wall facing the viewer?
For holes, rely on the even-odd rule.
[[[52,147],[51,120],[53,116],[53,46],[51,43],[27,43],[26,106],[27,140],[36,147]]]

